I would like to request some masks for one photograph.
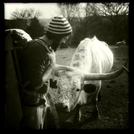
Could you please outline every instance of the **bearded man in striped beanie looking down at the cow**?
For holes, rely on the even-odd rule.
[[[22,53],[20,72],[22,77],[21,100],[22,129],[43,129],[46,103],[43,95],[48,90],[48,79],[56,64],[55,51],[72,33],[66,18],[54,17],[45,35],[29,41]]]

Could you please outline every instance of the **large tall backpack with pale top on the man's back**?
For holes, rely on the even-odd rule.
[[[5,30],[5,127],[16,129],[22,119],[19,84],[21,75],[18,54],[32,40],[30,35],[21,29]]]

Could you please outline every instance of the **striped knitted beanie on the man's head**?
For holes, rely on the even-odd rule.
[[[48,26],[48,32],[53,34],[71,34],[72,27],[64,17],[54,17]]]

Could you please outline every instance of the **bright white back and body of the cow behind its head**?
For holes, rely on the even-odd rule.
[[[87,73],[106,73],[113,66],[113,53],[96,37],[85,38],[77,47],[70,65]]]

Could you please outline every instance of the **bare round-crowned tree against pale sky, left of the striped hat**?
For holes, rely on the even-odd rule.
[[[27,26],[25,30],[32,38],[42,36],[44,34],[44,26],[40,24],[39,17],[41,12],[39,10],[21,9],[16,10],[11,14],[11,19],[21,21]]]

